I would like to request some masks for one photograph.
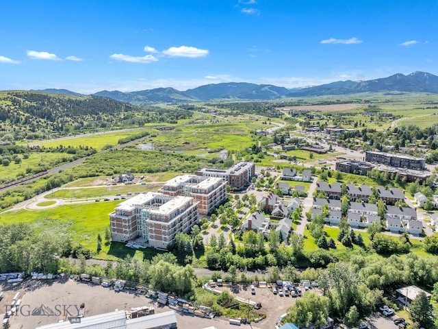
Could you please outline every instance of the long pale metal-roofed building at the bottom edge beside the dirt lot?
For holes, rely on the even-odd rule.
[[[177,315],[174,310],[127,319],[125,310],[93,315],[92,317],[72,318],[70,321],[47,324],[36,329],[177,329]]]

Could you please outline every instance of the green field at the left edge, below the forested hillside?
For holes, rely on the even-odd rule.
[[[66,153],[31,153],[29,154],[28,159],[23,159],[23,156],[21,157],[21,163],[16,164],[13,160],[10,162],[9,166],[2,166],[0,165],[0,177],[2,178],[14,178],[16,179],[17,175],[22,173],[24,175],[26,174],[26,168],[36,169],[44,167],[53,167],[52,163],[54,161],[59,161],[62,158],[72,158],[73,155],[66,154]]]

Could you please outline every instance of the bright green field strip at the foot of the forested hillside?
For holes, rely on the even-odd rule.
[[[72,146],[79,147],[88,146],[97,149],[98,151],[102,149],[105,145],[117,145],[117,142],[120,138],[126,138],[129,136],[137,135],[145,131],[155,132],[156,130],[143,129],[143,130],[130,130],[127,132],[112,132],[109,134],[97,134],[92,136],[77,136],[73,138],[66,138],[60,141],[50,141],[50,142],[42,142],[39,145],[44,147],[57,147],[59,145],[63,146]]]

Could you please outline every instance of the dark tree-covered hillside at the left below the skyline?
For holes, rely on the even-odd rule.
[[[0,92],[0,144],[145,123],[175,123],[188,117],[192,117],[188,110],[163,112],[105,97],[6,91]]]

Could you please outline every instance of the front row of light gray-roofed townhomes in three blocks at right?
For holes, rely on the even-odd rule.
[[[342,219],[342,206],[339,199],[313,198],[311,219],[323,213],[324,205],[329,208],[329,213],[324,217],[324,222],[338,225]],[[393,233],[409,232],[413,235],[422,233],[422,222],[417,221],[417,212],[410,207],[385,206],[385,220],[387,230]],[[352,228],[368,228],[372,223],[381,223],[376,204],[366,202],[348,203],[348,225]]]

